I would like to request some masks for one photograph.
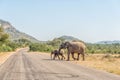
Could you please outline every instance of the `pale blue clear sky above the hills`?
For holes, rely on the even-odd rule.
[[[120,0],[0,0],[0,19],[38,40],[120,40]]]

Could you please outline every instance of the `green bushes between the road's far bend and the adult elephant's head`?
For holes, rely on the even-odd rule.
[[[63,41],[61,38],[55,38],[46,43],[32,43],[30,44],[30,51],[51,52],[54,49],[58,49]]]

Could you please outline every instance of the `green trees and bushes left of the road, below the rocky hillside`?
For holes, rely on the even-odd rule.
[[[4,32],[0,26],[0,52],[14,51],[17,48],[28,46],[30,41],[26,39],[18,39],[15,41],[9,40],[9,34]]]

